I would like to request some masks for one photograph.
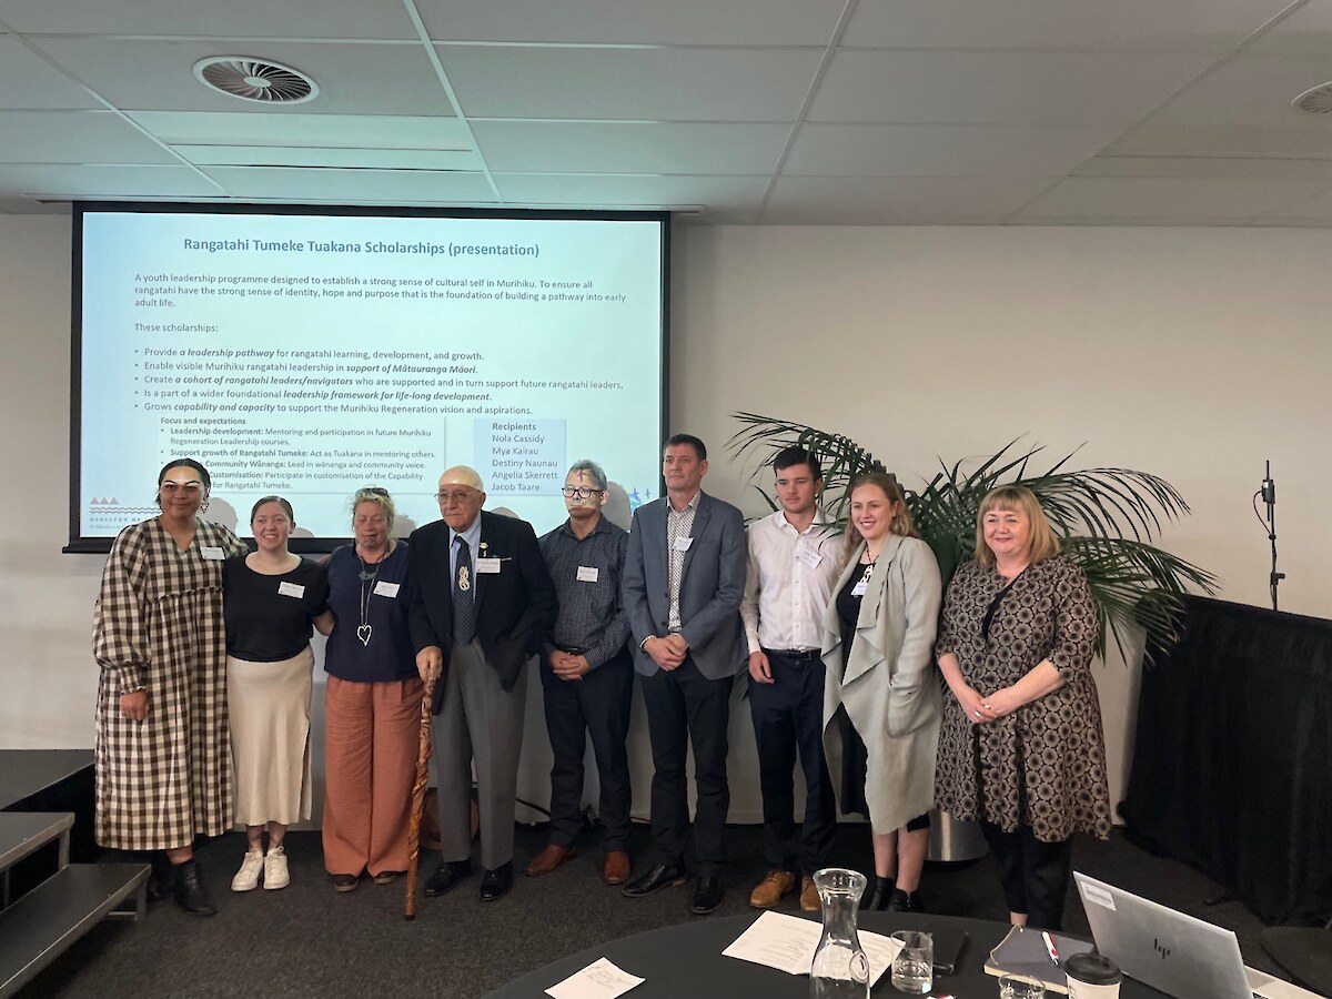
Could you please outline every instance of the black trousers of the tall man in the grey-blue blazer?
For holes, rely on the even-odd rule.
[[[642,677],[647,738],[653,747],[653,846],[659,863],[683,866],[689,843],[689,745],[694,747],[694,859],[698,875],[715,878],[731,793],[726,783],[726,726],[734,677],[709,679],[689,655],[674,670]]]

